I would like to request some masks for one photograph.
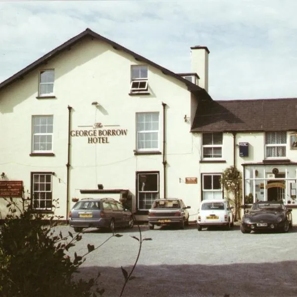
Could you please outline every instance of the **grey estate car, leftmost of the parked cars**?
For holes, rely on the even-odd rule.
[[[69,212],[69,225],[75,232],[86,227],[106,228],[134,225],[132,213],[113,198],[83,198],[76,202]]]

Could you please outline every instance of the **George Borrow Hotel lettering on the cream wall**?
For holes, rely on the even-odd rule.
[[[115,125],[117,126],[117,125]],[[102,123],[95,123],[93,126],[85,126],[89,129],[84,130],[71,130],[71,137],[87,137],[88,144],[109,144],[109,137],[113,136],[126,136],[127,129],[104,129],[103,127],[115,127],[115,126],[103,126]]]

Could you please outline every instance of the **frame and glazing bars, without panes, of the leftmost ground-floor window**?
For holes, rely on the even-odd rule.
[[[35,183],[34,181],[34,176],[38,175],[39,176],[39,181],[41,176],[44,176],[44,182],[39,182],[39,183]],[[50,182],[47,182],[46,180],[46,176],[50,177]],[[44,190],[35,190],[35,184],[39,184],[42,185],[44,184]],[[50,190],[46,189],[46,185],[50,185]],[[37,211],[52,211],[52,172],[31,172],[31,206],[33,210],[37,210]],[[35,196],[37,195],[36,193],[49,193],[49,195],[45,194],[45,199],[41,199],[42,195],[38,195],[39,198],[36,199]],[[49,198],[47,199],[47,196],[49,196]],[[35,206],[35,200],[39,201],[39,207]],[[40,207],[41,201],[45,201],[45,207]],[[50,201],[50,207],[47,207],[47,202],[46,201]]]

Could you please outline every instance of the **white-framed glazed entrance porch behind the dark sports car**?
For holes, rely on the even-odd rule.
[[[297,204],[296,165],[248,165],[244,170],[244,204],[257,201]]]

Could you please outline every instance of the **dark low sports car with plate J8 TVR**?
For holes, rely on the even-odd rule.
[[[242,233],[259,230],[288,232],[293,225],[291,211],[282,201],[255,202],[245,211],[240,230]]]

